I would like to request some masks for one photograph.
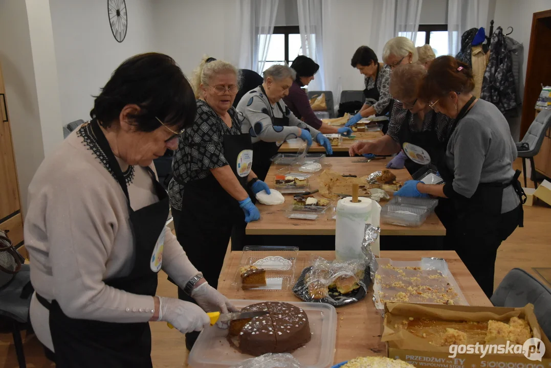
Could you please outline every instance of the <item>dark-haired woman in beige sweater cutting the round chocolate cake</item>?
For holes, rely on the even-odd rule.
[[[209,325],[206,311],[235,310],[165,226],[169,199],[154,172],[195,113],[172,58],[134,56],[37,170],[25,218],[30,320],[58,367],[152,367],[149,321],[185,333]],[[155,296],[161,269],[198,305]]]

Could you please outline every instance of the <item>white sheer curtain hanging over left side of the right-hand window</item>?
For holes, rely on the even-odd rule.
[[[385,43],[396,36],[408,37],[415,43],[423,0],[375,1],[371,22],[371,48],[379,59]]]

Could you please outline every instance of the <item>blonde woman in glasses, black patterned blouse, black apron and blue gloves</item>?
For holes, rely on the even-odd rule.
[[[244,222],[243,215],[245,222],[260,218],[249,192],[270,190],[251,170],[251,137],[241,133],[246,119],[232,106],[239,90],[237,68],[204,58],[193,74],[192,87],[197,114],[174,153],[169,196],[177,239],[216,288],[231,230]],[[180,288],[178,296],[193,301]],[[188,349],[197,336],[186,334]]]

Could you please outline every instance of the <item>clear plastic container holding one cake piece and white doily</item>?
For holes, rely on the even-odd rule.
[[[296,246],[245,246],[232,285],[243,290],[290,290],[298,255]]]

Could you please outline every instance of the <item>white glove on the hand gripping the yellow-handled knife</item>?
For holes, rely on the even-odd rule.
[[[201,331],[210,326],[210,318],[196,304],[159,296],[159,320],[169,322],[181,333]]]

